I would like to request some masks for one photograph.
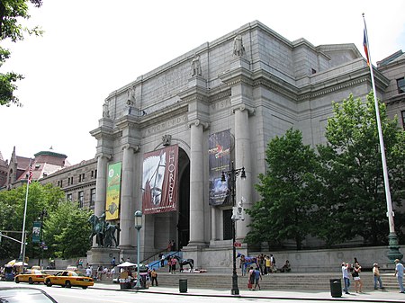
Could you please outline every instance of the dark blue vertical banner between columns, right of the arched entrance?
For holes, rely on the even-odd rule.
[[[230,165],[230,131],[229,129],[211,134],[209,144],[210,168],[210,205],[222,205],[227,202],[228,179],[221,182],[221,174],[229,170]],[[225,175],[225,177],[228,177]]]

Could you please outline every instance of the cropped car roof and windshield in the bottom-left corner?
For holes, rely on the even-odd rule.
[[[45,291],[31,287],[0,287],[0,302],[58,303]]]

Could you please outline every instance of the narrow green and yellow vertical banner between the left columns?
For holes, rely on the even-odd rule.
[[[120,218],[121,162],[108,165],[107,198],[105,201],[105,219]]]

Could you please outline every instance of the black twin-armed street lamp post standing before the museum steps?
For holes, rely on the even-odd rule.
[[[232,201],[232,206],[235,208],[236,203],[235,203],[235,196],[236,196],[236,180],[237,177],[240,176],[242,179],[246,179],[246,174],[245,174],[245,167],[242,168],[235,168],[233,165],[233,161],[231,163],[231,168],[229,171],[222,172],[220,181],[221,182],[226,182],[225,174],[228,175],[228,190],[230,192],[230,197]],[[236,223],[235,221],[238,218],[236,218],[234,215],[232,215],[232,262],[233,262],[233,272],[232,272],[232,289],[230,290],[230,293],[232,295],[238,295],[239,294],[239,289],[238,289],[238,273],[237,273],[237,267],[236,267]]]

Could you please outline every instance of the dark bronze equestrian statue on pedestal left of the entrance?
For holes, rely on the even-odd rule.
[[[88,218],[88,222],[92,226],[92,234],[89,236],[89,240],[92,241],[95,236],[95,243],[98,247],[114,247],[118,246],[117,238],[115,237],[116,231],[121,231],[120,227],[105,221],[105,213],[100,217],[94,214]],[[112,243],[113,242],[113,243]]]

